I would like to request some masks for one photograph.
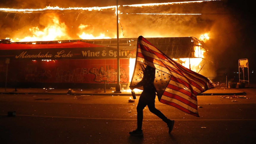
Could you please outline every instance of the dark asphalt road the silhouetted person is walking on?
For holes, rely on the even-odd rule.
[[[156,107],[175,120],[173,131],[146,107],[143,137],[128,133],[136,128],[139,97],[128,102],[130,96],[0,94],[0,143],[254,143],[256,89],[243,91],[247,99],[197,96],[200,118],[156,99]],[[10,111],[16,116],[7,116]]]

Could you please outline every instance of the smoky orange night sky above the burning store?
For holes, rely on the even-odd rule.
[[[184,1],[184,0],[177,0]],[[120,38],[139,37],[196,37],[209,33],[209,40],[204,47],[212,54],[216,70],[225,72],[238,71],[238,60],[248,58],[250,72],[256,69],[255,51],[255,8],[249,0],[205,1],[202,3],[183,3],[151,7],[123,7],[122,5],[177,2],[174,0],[119,0],[118,9],[123,13],[200,13],[202,15],[135,15],[120,14],[122,31]],[[68,7],[105,7],[116,5],[116,0],[5,0],[0,1],[0,8],[34,8],[46,6]],[[51,11],[52,12],[52,11]],[[64,12],[64,13],[63,13]],[[116,38],[116,15],[113,10],[96,13],[84,11],[63,11],[54,13],[60,22],[67,26],[69,39],[77,36],[80,24],[88,26],[88,34],[103,33]],[[82,12],[82,13],[80,13]],[[0,39],[6,37],[22,38],[29,27],[43,29],[51,13],[24,14],[0,11]],[[65,17],[64,17],[65,16]],[[108,30],[108,31],[107,31]],[[122,34],[124,32],[124,35]],[[29,34],[27,34],[29,35]],[[66,38],[67,39],[67,38]],[[61,40],[61,37],[60,37]]]

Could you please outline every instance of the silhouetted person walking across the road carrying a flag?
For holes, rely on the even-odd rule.
[[[137,129],[129,132],[132,136],[143,136],[142,121],[143,121],[143,109],[148,106],[151,113],[154,113],[161,118],[169,128],[169,133],[173,129],[174,120],[168,119],[160,110],[155,107],[156,88],[154,86],[155,68],[146,66],[143,70],[143,79],[136,85],[136,87],[143,86],[143,91],[140,95],[137,105]],[[130,86],[133,90],[135,86]]]

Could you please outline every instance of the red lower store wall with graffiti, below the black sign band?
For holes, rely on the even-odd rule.
[[[12,61],[8,82],[19,83],[116,83],[115,60]],[[5,82],[6,65],[0,61],[0,82]],[[129,83],[129,60],[120,64],[120,83]]]

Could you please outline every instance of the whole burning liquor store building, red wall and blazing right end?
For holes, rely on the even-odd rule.
[[[195,37],[146,38],[179,64],[205,75],[206,50]],[[17,88],[129,88],[137,38],[10,42],[0,41],[0,86]],[[207,66],[205,66],[207,67]]]

